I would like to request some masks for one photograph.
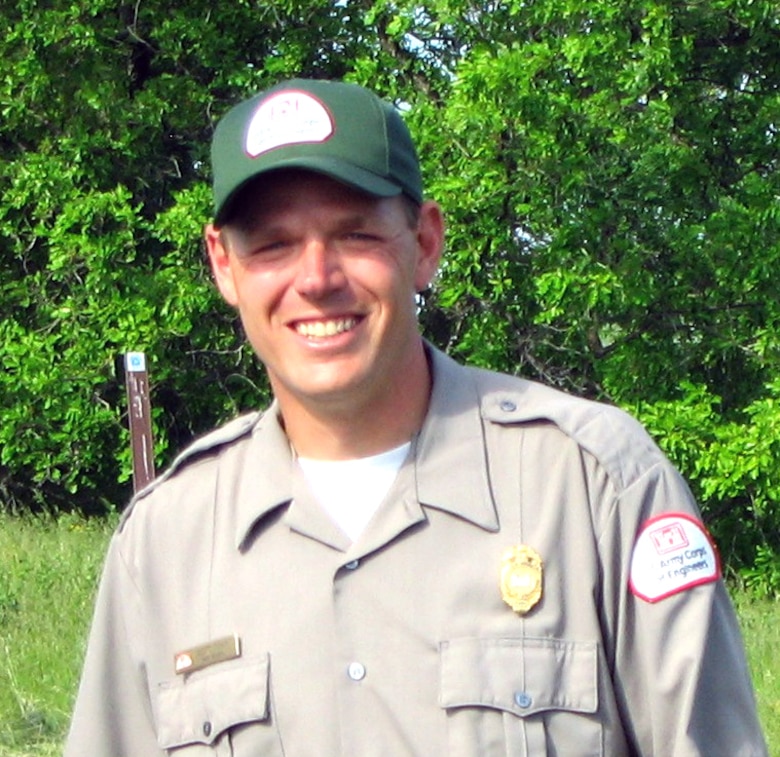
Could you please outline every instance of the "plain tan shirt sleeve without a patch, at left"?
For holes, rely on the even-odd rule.
[[[65,757],[154,757],[157,745],[143,666],[134,659],[129,619],[138,592],[115,537],[106,558]]]

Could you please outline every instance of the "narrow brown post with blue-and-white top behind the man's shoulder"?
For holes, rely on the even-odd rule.
[[[138,492],[154,479],[152,411],[146,356],[143,352],[126,352],[124,368],[133,457],[133,491]]]

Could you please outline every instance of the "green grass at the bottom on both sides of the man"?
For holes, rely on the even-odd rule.
[[[0,757],[54,757],[116,518],[0,514]],[[780,603],[735,602],[772,757],[780,757]]]

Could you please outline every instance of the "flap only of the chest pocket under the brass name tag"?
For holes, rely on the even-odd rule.
[[[229,728],[268,717],[268,657],[222,663],[161,683],[156,692],[162,749],[212,744]]]

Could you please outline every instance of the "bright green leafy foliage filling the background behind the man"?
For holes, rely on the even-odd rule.
[[[448,214],[426,335],[634,410],[732,570],[771,575],[776,3],[28,0],[0,24],[0,506],[126,498],[126,350],[159,466],[265,402],[203,265],[209,137],[279,78],[346,78],[403,109]]]

